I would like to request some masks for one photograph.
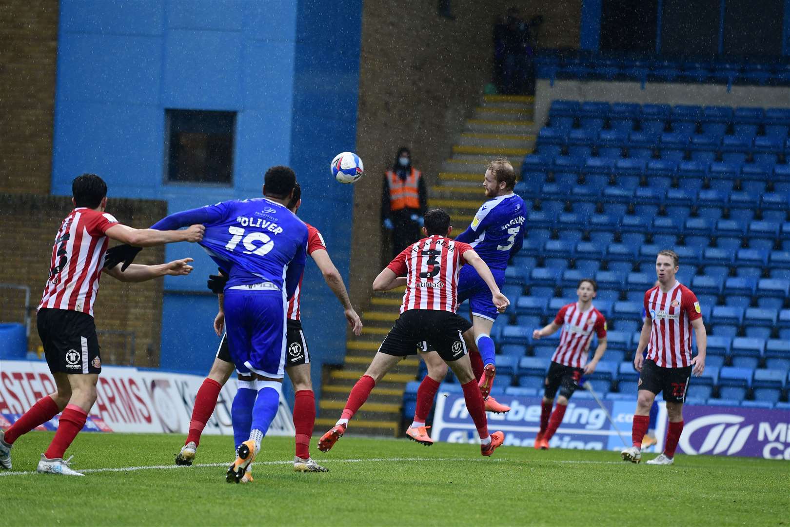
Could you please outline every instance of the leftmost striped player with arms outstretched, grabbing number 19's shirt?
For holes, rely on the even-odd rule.
[[[93,321],[93,303],[99,292],[104,254],[110,239],[137,247],[175,242],[199,242],[205,228],[192,225],[184,231],[135,229],[118,223],[107,208],[107,184],[94,174],[73,180],[74,209],[62,221],[49,266],[49,277],[38,308],[36,325],[52,377],[54,393],[41,398],[6,431],[0,431],[0,468],[11,468],[11,446],[28,431],[63,412],[58,431],[41,454],[38,472],[82,476],[63,454],[85,426],[96,401],[101,373],[99,340]],[[164,275],[186,275],[192,258],[161,265],[128,265],[106,272],[123,282],[141,282]]]

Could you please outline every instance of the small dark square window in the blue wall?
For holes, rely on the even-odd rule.
[[[235,111],[165,110],[167,183],[233,183]]]

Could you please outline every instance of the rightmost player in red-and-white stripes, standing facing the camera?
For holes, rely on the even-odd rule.
[[[641,461],[641,442],[649,426],[650,407],[663,392],[667,403],[669,427],[664,452],[648,461],[649,465],[672,465],[675,448],[683,432],[683,402],[686,401],[692,373],[705,371],[708,336],[702,323],[702,309],[697,296],[675,279],[679,258],[673,250],[656,256],[658,285],[645,292],[645,323],[634,356],[639,372],[637,409],[631,429],[633,446],[620,453],[623,461]],[[691,357],[691,331],[697,340],[697,356]],[[647,357],[642,352],[647,348]]]

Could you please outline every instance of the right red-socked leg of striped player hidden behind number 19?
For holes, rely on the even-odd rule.
[[[310,457],[310,438],[315,425],[315,396],[310,381],[310,363],[287,367],[285,371],[294,387],[294,427],[296,472],[329,472]]]

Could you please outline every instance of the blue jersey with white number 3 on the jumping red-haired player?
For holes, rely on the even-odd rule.
[[[491,269],[506,269],[510,254],[524,242],[524,200],[516,194],[492,198],[478,209],[457,240],[468,243]]]

